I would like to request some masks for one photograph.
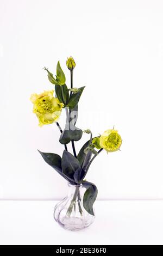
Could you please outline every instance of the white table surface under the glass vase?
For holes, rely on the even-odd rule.
[[[1,245],[162,245],[162,200],[95,203],[96,220],[80,231],[53,218],[57,201],[0,201]]]

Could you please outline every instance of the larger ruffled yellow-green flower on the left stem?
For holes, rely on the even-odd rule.
[[[33,103],[33,113],[39,119],[39,126],[52,124],[58,120],[64,104],[53,96],[54,90],[47,90],[41,94],[32,94],[30,100]]]

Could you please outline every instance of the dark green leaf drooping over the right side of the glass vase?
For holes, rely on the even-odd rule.
[[[93,204],[95,203],[96,197],[97,197],[97,187],[95,184],[89,182],[89,181],[84,181],[83,186],[86,188],[86,191],[84,193],[83,197],[83,206],[84,209],[91,215],[95,215],[93,212]]]

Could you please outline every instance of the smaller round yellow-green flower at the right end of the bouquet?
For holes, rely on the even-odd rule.
[[[114,152],[121,147],[122,139],[118,131],[106,130],[99,138],[99,144],[106,151]]]

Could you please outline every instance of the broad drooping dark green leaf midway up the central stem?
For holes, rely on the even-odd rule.
[[[64,131],[61,133],[59,142],[61,144],[68,144],[70,141],[79,141],[82,138],[83,131],[76,126],[67,123]]]

